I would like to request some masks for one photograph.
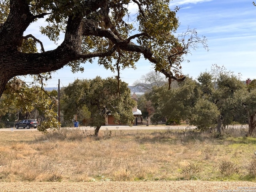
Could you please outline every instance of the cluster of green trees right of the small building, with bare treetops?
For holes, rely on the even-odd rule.
[[[248,134],[256,127],[256,80],[246,85],[240,75],[216,64],[210,71],[201,72],[196,80],[186,78],[166,84],[156,82],[154,74],[144,76],[141,87],[147,84],[146,93],[140,97],[138,108],[144,116],[152,116],[153,123],[162,118],[180,122],[186,120],[200,130],[222,130],[230,124],[248,124]]]

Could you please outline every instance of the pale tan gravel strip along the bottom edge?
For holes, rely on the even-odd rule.
[[[0,192],[256,192],[254,182],[0,182]]]

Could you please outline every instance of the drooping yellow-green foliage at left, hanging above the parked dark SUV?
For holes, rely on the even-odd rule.
[[[13,122],[36,119],[40,124],[38,130],[42,132],[58,129],[60,123],[56,118],[57,94],[56,90],[44,91],[35,84],[28,85],[18,78],[13,78],[12,82],[6,85],[1,98],[0,118],[8,113]]]

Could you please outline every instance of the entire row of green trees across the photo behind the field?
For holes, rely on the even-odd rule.
[[[223,66],[213,65],[210,71],[201,72],[196,80],[187,77],[182,82],[168,82],[156,72],[142,76],[144,82],[136,86],[146,90],[140,96],[138,108],[151,122],[167,119],[168,122],[185,120],[200,130],[217,130],[221,134],[234,123],[248,124],[248,134],[256,127],[256,80],[246,85],[240,76]],[[40,123],[39,130],[60,128],[57,121],[58,92],[44,91],[36,84],[28,85],[14,78],[0,99],[1,122],[15,122],[32,118]],[[116,122],[130,125],[135,106],[128,84],[116,78],[75,80],[60,90],[61,124],[72,126],[74,121],[95,128],[100,127],[108,115]],[[9,122],[8,122],[9,123]],[[13,126],[13,125],[12,125]]]

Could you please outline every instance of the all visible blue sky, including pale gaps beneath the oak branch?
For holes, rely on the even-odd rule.
[[[199,36],[208,39],[207,52],[202,46],[192,50],[185,58],[190,62],[182,63],[182,72],[192,78],[197,78],[200,72],[210,70],[213,64],[224,66],[227,70],[240,73],[242,80],[256,79],[256,7],[252,0],[173,0],[170,7],[180,7],[177,13],[180,28],[177,33],[187,28],[196,29]],[[41,23],[42,24],[42,23]],[[41,24],[32,24],[26,34],[33,34],[44,44],[46,50],[56,45],[50,43],[45,36],[37,32]],[[142,58],[137,69],[121,71],[121,79],[132,85],[153,66]],[[67,86],[76,78],[106,78],[116,74],[104,69],[98,64],[84,64],[83,73],[72,74],[70,68],[64,67],[52,74],[48,87],[55,87],[60,79],[60,86]]]

